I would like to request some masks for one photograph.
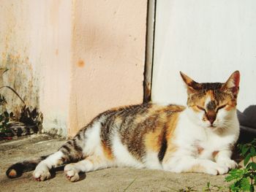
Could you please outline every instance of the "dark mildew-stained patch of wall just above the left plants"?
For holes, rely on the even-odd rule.
[[[29,58],[24,55],[20,56],[20,54],[12,55],[10,53],[2,53],[0,64],[2,69],[8,69],[1,76],[1,86],[8,85],[14,88],[26,106],[38,107],[39,87],[37,85],[37,79],[33,75],[32,66],[29,64]],[[3,88],[1,94],[6,97],[9,110],[13,112],[20,111],[23,103],[15,93],[7,88]]]

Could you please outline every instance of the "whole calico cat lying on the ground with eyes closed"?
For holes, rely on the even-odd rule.
[[[13,164],[10,178],[34,170],[38,181],[64,166],[67,178],[110,166],[170,172],[225,174],[237,166],[230,159],[239,135],[236,101],[240,74],[227,82],[198,83],[181,72],[187,107],[153,103],[120,107],[99,114],[56,153]]]

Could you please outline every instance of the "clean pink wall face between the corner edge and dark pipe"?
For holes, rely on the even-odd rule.
[[[69,135],[99,112],[143,101],[147,1],[75,1]]]

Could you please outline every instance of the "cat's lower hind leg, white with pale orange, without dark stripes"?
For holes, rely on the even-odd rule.
[[[91,155],[77,163],[67,164],[64,167],[64,172],[66,172],[68,180],[75,182],[79,180],[80,172],[91,172],[97,169],[105,169],[110,166],[113,166],[113,162],[108,161],[99,155]]]

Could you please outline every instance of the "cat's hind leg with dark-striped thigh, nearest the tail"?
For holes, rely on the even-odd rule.
[[[53,167],[60,166],[70,161],[79,161],[83,158],[82,143],[78,142],[76,139],[69,140],[67,143],[62,145],[62,147],[56,153],[53,153],[41,161],[36,169],[34,169],[33,176],[36,180],[48,180],[50,179],[49,170]]]

